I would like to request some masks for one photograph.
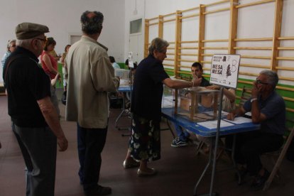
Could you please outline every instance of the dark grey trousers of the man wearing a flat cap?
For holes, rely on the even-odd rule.
[[[53,196],[57,141],[48,127],[28,128],[12,124],[26,163],[26,195]]]

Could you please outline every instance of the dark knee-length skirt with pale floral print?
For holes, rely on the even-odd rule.
[[[136,160],[160,159],[160,121],[133,115],[129,151]]]

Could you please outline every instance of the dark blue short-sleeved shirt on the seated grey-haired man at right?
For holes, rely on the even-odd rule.
[[[245,111],[251,111],[250,99],[244,103]],[[266,120],[261,122],[261,131],[283,135],[285,132],[285,102],[276,92],[266,99],[258,98],[258,107]]]

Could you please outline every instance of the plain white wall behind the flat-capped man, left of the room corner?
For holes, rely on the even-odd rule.
[[[49,27],[47,37],[56,40],[55,50],[62,53],[69,33],[81,33],[80,16],[86,10],[104,14],[102,34],[98,41],[109,48],[116,62],[124,62],[124,0],[9,0],[0,1],[0,56],[6,53],[8,40],[16,38],[18,23],[41,23]],[[0,69],[0,82],[2,69]]]

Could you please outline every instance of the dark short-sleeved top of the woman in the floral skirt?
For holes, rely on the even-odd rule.
[[[162,62],[148,55],[136,69],[131,111],[151,120],[160,120],[163,80],[169,78]]]

